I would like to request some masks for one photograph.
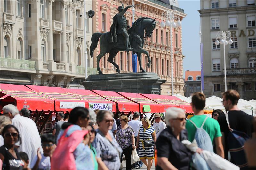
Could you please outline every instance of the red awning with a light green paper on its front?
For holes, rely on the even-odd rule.
[[[140,112],[159,113],[162,106],[137,93],[117,92],[127,99],[140,104]]]

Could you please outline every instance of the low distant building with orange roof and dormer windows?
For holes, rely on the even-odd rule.
[[[185,96],[201,92],[201,71],[185,71]]]

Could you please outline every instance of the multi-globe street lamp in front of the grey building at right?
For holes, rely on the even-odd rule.
[[[225,82],[225,92],[227,91],[227,77],[226,77],[226,54],[225,54],[225,46],[228,44],[232,44],[233,41],[230,38],[231,37],[231,33],[230,31],[218,31],[217,35],[216,35],[216,41],[215,41],[215,45],[223,45],[223,51],[224,51],[224,82]],[[218,41],[218,39],[220,39],[220,41]],[[227,41],[227,39],[229,39]]]

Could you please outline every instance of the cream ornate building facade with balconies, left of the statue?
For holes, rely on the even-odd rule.
[[[84,88],[85,50],[89,51],[92,18],[80,0],[0,1],[1,83]],[[86,1],[86,11],[92,1]],[[82,17],[80,17],[82,15]],[[87,58],[88,74],[96,74]]]

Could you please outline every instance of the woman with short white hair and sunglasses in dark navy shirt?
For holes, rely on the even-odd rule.
[[[167,128],[156,140],[157,166],[162,169],[189,169],[191,153],[182,140],[187,139],[186,116],[180,108],[169,108],[165,113]]]

